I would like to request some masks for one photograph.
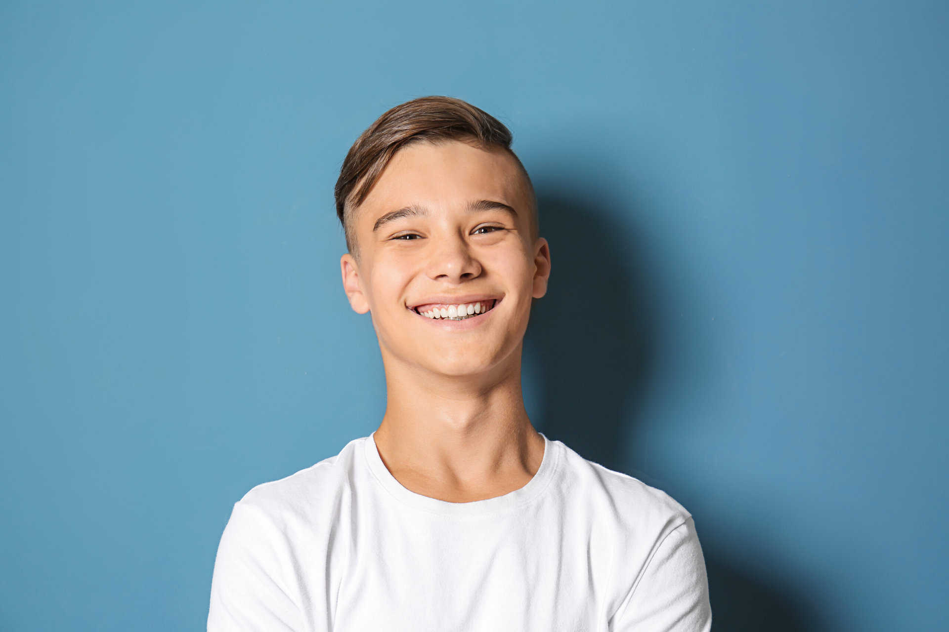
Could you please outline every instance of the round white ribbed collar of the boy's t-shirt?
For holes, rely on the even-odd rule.
[[[540,467],[527,484],[503,496],[485,498],[483,500],[473,500],[471,502],[449,502],[416,494],[412,490],[404,487],[398,479],[392,476],[389,469],[382,462],[379,455],[379,447],[376,445],[376,432],[373,431],[368,437],[363,437],[363,455],[365,463],[372,472],[373,478],[391,496],[395,497],[401,503],[414,507],[423,512],[437,515],[493,515],[501,514],[522,505],[529,503],[533,498],[538,497],[547,489],[549,482],[553,479],[558,466],[560,465],[560,442],[552,442],[543,432],[538,434],[544,438],[544,459],[541,460]]]

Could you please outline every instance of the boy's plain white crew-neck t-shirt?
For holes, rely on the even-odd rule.
[[[403,487],[375,432],[234,503],[208,630],[707,632],[705,560],[676,500],[544,437],[518,490]]]

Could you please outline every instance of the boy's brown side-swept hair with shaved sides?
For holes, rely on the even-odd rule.
[[[530,192],[530,240],[539,233],[537,198],[530,176],[511,149],[511,131],[490,114],[453,97],[419,97],[397,105],[370,125],[356,139],[336,181],[336,215],[343,225],[346,248],[359,259],[353,209],[358,208],[400,149],[412,143],[458,140],[484,150],[510,153],[524,174]]]

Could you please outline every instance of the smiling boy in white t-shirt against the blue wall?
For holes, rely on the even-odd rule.
[[[508,129],[459,99],[402,103],[349,150],[336,208],[385,414],[234,504],[208,629],[711,629],[689,512],[530,424],[521,351],[550,253]]]

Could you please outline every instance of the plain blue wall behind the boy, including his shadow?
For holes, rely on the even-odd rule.
[[[233,502],[377,427],[332,188],[445,94],[540,198],[531,419],[716,629],[945,629],[947,7],[4,3],[0,628],[203,629]]]

